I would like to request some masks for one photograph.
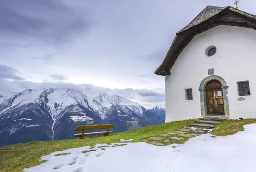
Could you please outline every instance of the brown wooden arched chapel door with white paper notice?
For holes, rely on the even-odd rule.
[[[221,83],[212,80],[205,87],[208,115],[225,115]]]

